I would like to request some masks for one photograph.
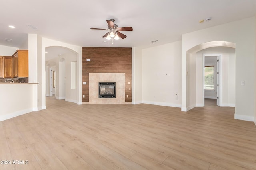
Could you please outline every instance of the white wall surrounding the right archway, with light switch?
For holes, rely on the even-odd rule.
[[[234,21],[182,35],[182,110],[188,108],[187,52],[202,43],[227,41],[236,44],[236,119],[254,121],[255,115],[255,18]],[[224,46],[225,44],[223,44]],[[220,45],[222,46],[222,45]],[[212,46],[213,47],[213,46]],[[189,73],[188,73],[189,74]],[[245,81],[245,86],[241,86]]]

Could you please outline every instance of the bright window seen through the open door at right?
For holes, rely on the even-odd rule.
[[[214,90],[214,66],[204,67],[204,90]]]

